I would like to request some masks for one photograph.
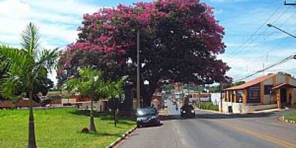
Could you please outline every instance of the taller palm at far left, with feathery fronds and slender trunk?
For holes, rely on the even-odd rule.
[[[51,72],[59,54],[58,48],[39,49],[38,29],[33,23],[29,23],[21,37],[22,49],[0,46],[1,69],[6,72],[2,79],[1,93],[8,99],[23,96],[23,93],[17,92],[29,94],[28,148],[37,148],[32,108],[33,84],[37,77],[47,75],[47,71]]]

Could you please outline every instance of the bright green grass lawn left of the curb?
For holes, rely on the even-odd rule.
[[[114,127],[111,116],[95,115],[96,134],[81,133],[89,126],[89,111],[74,108],[35,110],[38,148],[105,148],[136,124],[120,119]],[[0,148],[26,148],[28,110],[0,110]]]

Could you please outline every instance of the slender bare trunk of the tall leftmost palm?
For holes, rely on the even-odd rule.
[[[34,123],[34,114],[32,107],[33,100],[33,88],[29,90],[29,141],[28,148],[37,148],[35,140],[35,123]]]

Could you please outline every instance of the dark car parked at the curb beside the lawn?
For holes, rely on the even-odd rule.
[[[158,111],[155,108],[141,108],[137,110],[137,127],[142,126],[158,126],[160,120],[158,118]]]

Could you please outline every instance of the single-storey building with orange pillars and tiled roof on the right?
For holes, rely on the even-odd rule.
[[[222,112],[243,113],[277,108],[296,102],[296,78],[290,74],[268,74],[242,85],[224,89]]]

